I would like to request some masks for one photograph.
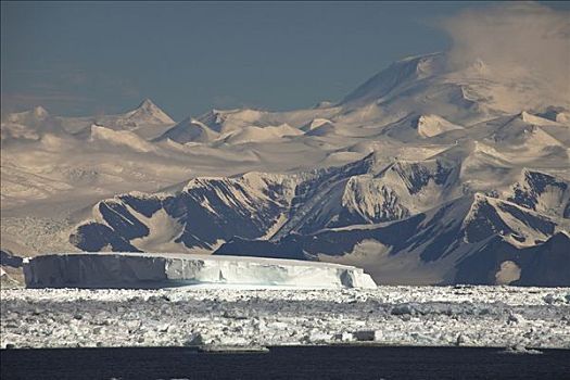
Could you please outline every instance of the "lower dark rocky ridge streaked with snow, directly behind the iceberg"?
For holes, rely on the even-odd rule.
[[[397,270],[419,283],[568,283],[561,231],[570,220],[556,213],[568,206],[568,183],[525,170],[502,199],[465,191],[458,170],[443,160],[379,165],[369,155],[290,176],[197,179],[176,195],[102,201],[101,221],[72,240],[81,250],[143,250],[163,213],[180,226],[172,241],[182,250],[354,263],[380,283],[401,283]],[[535,202],[517,198],[522,187]],[[553,213],[535,211],[542,199]]]

